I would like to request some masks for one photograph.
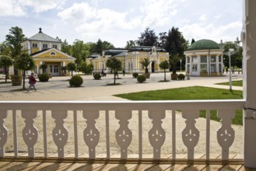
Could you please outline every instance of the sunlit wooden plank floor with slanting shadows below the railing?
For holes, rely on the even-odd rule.
[[[220,162],[220,155],[216,155],[216,160],[211,159],[209,163],[202,162],[205,158],[205,155],[200,155],[201,157],[197,158],[194,163],[188,162],[186,160],[186,155],[181,158],[177,158],[177,160],[171,161],[168,159],[163,159],[160,161],[153,161],[153,159],[143,159],[142,161],[138,161],[138,159],[128,159],[125,162],[117,159],[116,156],[111,156],[110,161],[103,160],[82,160],[67,157],[64,160],[60,160],[54,158],[55,155],[49,155],[49,159],[28,159],[27,154],[19,155],[19,158],[13,159],[13,157],[6,157],[4,159],[0,159],[0,170],[27,170],[27,171],[35,171],[35,170],[102,170],[102,171],[117,171],[117,170],[187,170],[187,171],[196,171],[196,170],[239,170],[239,171],[251,171],[256,169],[245,168],[243,164],[243,159],[240,158],[240,155],[233,155],[232,159],[228,163]],[[181,157],[181,156],[179,156]],[[198,157],[198,156],[197,156]],[[200,160],[202,159],[202,160]]]

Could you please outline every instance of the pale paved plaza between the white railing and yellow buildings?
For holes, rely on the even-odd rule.
[[[116,83],[118,86],[107,86],[114,83],[114,76],[107,75],[100,80],[94,80],[93,75],[82,75],[83,84],[79,88],[71,88],[69,86],[69,76],[53,77],[49,82],[37,82],[37,92],[33,89],[28,93],[20,91],[22,86],[12,86],[9,84],[0,84],[1,101],[117,101],[127,100],[113,96],[114,94],[141,92],[156,89],[174,89],[188,86],[208,86],[229,89],[229,86],[219,86],[216,83],[228,82],[229,75],[219,77],[190,77],[183,81],[170,80],[170,73],[167,73],[167,80],[163,81],[164,73],[153,73],[150,79],[145,83],[138,83],[137,79],[132,78],[131,74],[119,75]],[[243,75],[237,75],[237,79],[242,79]],[[9,80],[10,81],[10,80]],[[4,82],[4,80],[0,80]],[[26,88],[29,86],[26,79]],[[233,89],[242,90],[242,87],[233,86]]]

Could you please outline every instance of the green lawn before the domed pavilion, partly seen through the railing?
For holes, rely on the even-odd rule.
[[[133,92],[114,95],[130,100],[185,100],[185,99],[243,99],[243,92],[229,89],[216,89],[202,86],[184,87],[178,89],[163,89],[147,92]],[[205,117],[205,110],[200,111],[200,117]],[[211,110],[211,120],[219,121],[216,110]],[[243,124],[243,112],[237,110],[232,124]]]

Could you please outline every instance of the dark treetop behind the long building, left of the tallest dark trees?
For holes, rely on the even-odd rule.
[[[154,30],[150,30],[149,27],[146,28],[144,33],[141,33],[141,37],[137,40],[139,46],[157,46],[158,37]]]

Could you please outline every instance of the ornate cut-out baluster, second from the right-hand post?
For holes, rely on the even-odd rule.
[[[184,110],[182,117],[186,119],[186,127],[182,131],[182,140],[184,145],[188,148],[188,160],[194,159],[194,148],[198,144],[199,131],[195,127],[195,119],[199,117],[198,110]]]

